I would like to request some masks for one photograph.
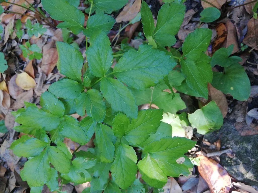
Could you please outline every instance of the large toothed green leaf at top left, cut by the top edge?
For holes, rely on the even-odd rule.
[[[44,10],[54,20],[63,21],[57,25],[58,28],[69,28],[74,34],[80,33],[84,28],[84,14],[67,1],[42,0]]]

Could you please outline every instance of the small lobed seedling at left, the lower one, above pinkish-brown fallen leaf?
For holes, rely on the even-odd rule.
[[[36,44],[30,45],[30,42],[27,41],[25,45],[20,45],[19,47],[25,58],[29,57],[30,60],[34,58],[40,60],[42,58],[41,49]]]

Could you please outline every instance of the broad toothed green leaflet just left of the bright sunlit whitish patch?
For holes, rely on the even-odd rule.
[[[144,142],[149,138],[149,134],[157,131],[162,115],[162,109],[147,109],[139,111],[138,117],[136,119],[132,119],[131,124],[125,130],[125,139],[132,144],[140,144]]]

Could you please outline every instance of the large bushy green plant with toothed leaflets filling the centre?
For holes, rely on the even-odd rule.
[[[28,182],[31,191],[40,192],[46,184],[50,191],[61,192],[62,185],[59,188],[57,181],[60,178],[62,184],[91,181],[91,188],[84,192],[146,192],[150,186],[163,187],[167,176],[191,173],[193,165],[184,153],[196,142],[171,137],[171,125],[164,120],[161,122],[172,113],[176,119],[175,128],[180,130],[189,125],[186,113],[176,115],[186,105],[180,95],[173,92],[172,86],[180,92],[208,99],[207,84],[213,84],[213,76],[215,80],[216,76],[225,76],[225,82],[231,79],[223,73],[212,72],[211,59],[204,53],[211,40],[209,29],[196,29],[190,33],[182,46],[183,55],[172,48],[165,49],[176,42],[174,36],[184,18],[185,6],[179,3],[165,3],[155,27],[150,9],[142,1],[143,32],[149,45],[140,45],[135,50],[123,42],[122,51],[114,54],[107,33],[115,20],[104,12],[118,10],[126,2],[109,1],[107,6],[103,0],[89,1],[85,29],[84,14],[71,1],[42,0],[50,16],[63,21],[57,27],[69,28],[75,34],[83,31],[86,62],[77,49],[57,42],[57,68],[66,77],[53,83],[48,92],[41,95],[42,108],[26,102],[26,108],[13,112],[15,121],[21,124],[14,129],[28,135],[14,141],[11,149],[17,156],[28,157],[21,178]],[[95,14],[91,15],[93,11]],[[228,58],[232,49],[227,50],[224,60],[236,65],[238,58]],[[122,57],[113,69],[113,59],[118,56]],[[215,56],[213,60],[216,61]],[[172,70],[176,61],[181,68]],[[231,66],[225,67],[226,74],[228,67]],[[241,66],[238,68],[243,71]],[[164,92],[165,89],[170,92]],[[238,87],[234,89],[238,90]],[[245,96],[244,100],[247,98]],[[145,103],[155,104],[160,109],[138,111],[137,105]],[[211,118],[213,111],[216,119]],[[87,116],[78,121],[70,116],[75,112],[82,117],[86,112]],[[193,120],[194,116],[200,121]],[[206,119],[205,124],[201,118]],[[211,101],[190,114],[189,121],[200,133],[206,133],[218,129],[223,118],[216,103]],[[93,139],[95,147],[71,153],[63,143],[65,137],[80,145]],[[143,184],[136,179],[138,172],[142,174]],[[158,190],[154,189],[154,192]]]

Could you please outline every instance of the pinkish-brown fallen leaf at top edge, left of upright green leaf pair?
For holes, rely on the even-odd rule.
[[[141,0],[129,1],[129,3],[124,6],[123,10],[116,17],[116,22],[120,23],[122,21],[132,20],[140,11]]]

